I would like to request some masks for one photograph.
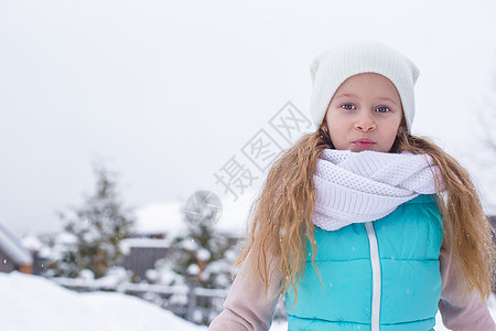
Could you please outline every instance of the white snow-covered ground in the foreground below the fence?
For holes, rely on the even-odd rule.
[[[206,331],[139,298],[117,292],[78,293],[45,278],[0,273],[0,317],[8,331]],[[488,302],[496,318],[496,297]],[[287,330],[274,323],[271,331]],[[438,313],[435,330],[448,330]]]

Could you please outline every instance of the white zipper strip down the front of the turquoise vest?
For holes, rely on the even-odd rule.
[[[371,222],[365,223],[368,242],[370,244],[370,261],[373,268],[373,307],[371,307],[371,331],[379,331],[380,314],[380,261],[377,236]]]

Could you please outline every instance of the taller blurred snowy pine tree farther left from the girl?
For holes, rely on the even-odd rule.
[[[66,245],[50,266],[51,276],[78,277],[84,269],[95,278],[105,276],[121,257],[120,242],[131,234],[133,217],[119,200],[116,173],[104,164],[95,164],[94,172],[95,193],[80,207],[61,213]]]

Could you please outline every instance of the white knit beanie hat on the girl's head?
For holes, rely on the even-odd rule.
[[[324,120],[328,104],[344,81],[362,73],[376,73],[396,86],[408,130],[411,130],[416,115],[413,85],[420,71],[396,50],[375,41],[339,44],[317,55],[310,64],[310,73],[313,84],[310,114],[315,129]]]

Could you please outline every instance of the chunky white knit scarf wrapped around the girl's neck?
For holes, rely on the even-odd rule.
[[[435,193],[428,154],[326,149],[313,175],[313,224],[327,231],[379,220],[419,194]]]

